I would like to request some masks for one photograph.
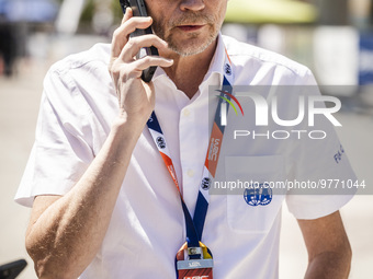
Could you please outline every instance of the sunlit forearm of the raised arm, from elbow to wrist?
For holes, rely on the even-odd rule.
[[[32,220],[26,247],[39,278],[77,278],[93,259],[142,132],[135,126],[128,121],[114,125],[77,185]]]

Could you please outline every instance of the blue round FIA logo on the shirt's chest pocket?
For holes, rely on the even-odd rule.
[[[252,207],[268,206],[272,201],[272,189],[267,183],[250,185],[245,189],[244,198],[246,204]]]

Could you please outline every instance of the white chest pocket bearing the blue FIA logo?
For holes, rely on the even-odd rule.
[[[280,217],[285,197],[285,190],[279,189],[285,177],[283,156],[226,156],[225,177],[227,185],[230,183],[229,226],[241,232],[268,232]]]

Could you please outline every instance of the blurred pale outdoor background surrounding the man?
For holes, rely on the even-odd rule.
[[[34,140],[43,78],[50,65],[98,42],[110,43],[117,0],[0,0],[0,265],[25,258],[30,210],[13,201]],[[372,0],[229,0],[223,34],[309,67],[321,92],[342,102],[337,129],[359,179],[373,187]],[[371,191],[372,193],[372,191]],[[373,278],[373,196],[341,210],[353,249],[350,278]],[[307,255],[284,206],[280,278],[302,278]]]

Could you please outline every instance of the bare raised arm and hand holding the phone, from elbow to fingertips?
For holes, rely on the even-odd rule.
[[[142,71],[172,65],[161,57],[134,59],[143,46],[167,47],[155,35],[128,40],[136,27],[150,24],[149,18],[132,18],[128,10],[114,33],[109,71],[120,113],[102,149],[69,193],[34,200],[26,248],[39,278],[77,278],[101,246],[132,152],[155,105],[154,88],[140,80]]]

